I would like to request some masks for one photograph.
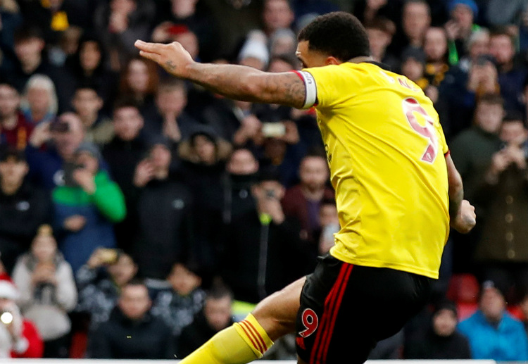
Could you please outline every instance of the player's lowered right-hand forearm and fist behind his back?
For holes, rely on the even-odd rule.
[[[449,183],[449,216],[451,227],[463,234],[470,232],[476,223],[474,207],[464,199],[462,177],[455,168],[450,155],[446,156],[447,177]]]

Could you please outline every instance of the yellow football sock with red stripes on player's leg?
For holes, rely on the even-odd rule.
[[[251,313],[241,322],[218,332],[181,364],[245,364],[261,358],[273,345]]]

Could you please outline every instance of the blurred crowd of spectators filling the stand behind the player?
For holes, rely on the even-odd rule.
[[[528,360],[528,0],[0,0],[0,357],[182,358],[313,270],[339,230],[315,112],[133,44],[287,72],[330,11],[432,99],[477,212],[372,358]]]

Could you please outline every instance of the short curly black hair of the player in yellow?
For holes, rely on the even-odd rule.
[[[334,11],[320,15],[298,34],[299,42],[308,41],[308,47],[348,61],[359,56],[370,56],[365,27],[354,15]]]

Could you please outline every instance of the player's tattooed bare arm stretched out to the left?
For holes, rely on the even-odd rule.
[[[178,42],[146,43],[138,40],[139,54],[158,63],[168,73],[201,84],[230,99],[279,103],[302,108],[306,89],[295,73],[266,73],[244,65],[218,65],[193,61]]]

